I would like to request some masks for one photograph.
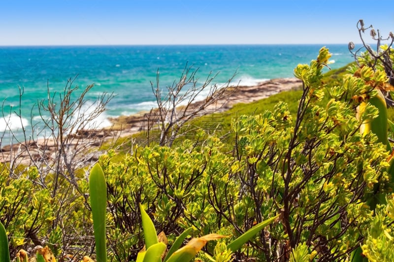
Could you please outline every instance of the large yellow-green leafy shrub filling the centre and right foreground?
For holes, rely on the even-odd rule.
[[[238,260],[290,257],[291,250],[305,245],[319,260],[348,257],[372,219],[363,196],[375,183],[388,181],[381,175],[388,152],[374,134],[359,131],[377,114],[368,107],[357,118],[360,101],[352,98],[372,92],[370,79],[348,74],[343,85],[326,90],[322,69],[328,58],[323,48],[317,60],[296,68],[304,88],[295,116],[283,102],[272,111],[239,116],[231,124],[231,144],[197,131],[195,141],[146,146],[121,163],[102,156],[117,260],[129,259],[127,250],[143,245],[135,227],[139,202],[154,214],[155,227],[169,235],[192,227],[198,235],[235,237],[281,213],[280,223],[249,243],[252,250],[236,252]],[[208,244],[207,253],[214,248]]]

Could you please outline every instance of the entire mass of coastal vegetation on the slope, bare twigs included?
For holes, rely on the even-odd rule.
[[[356,62],[327,72],[323,47],[295,68],[296,90],[215,115],[183,107],[169,126],[177,107],[153,87],[159,124],[117,141],[72,117],[85,100],[68,82],[60,106],[41,104],[52,140],[33,155],[26,137],[16,153],[29,161],[1,164],[1,261],[393,261],[394,36],[358,27],[376,50],[350,43]],[[193,81],[185,72],[167,101]]]

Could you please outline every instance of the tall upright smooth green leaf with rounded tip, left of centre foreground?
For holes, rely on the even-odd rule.
[[[107,187],[104,173],[99,164],[96,164],[90,172],[89,190],[93,215],[93,228],[95,230],[97,261],[106,262],[105,212],[107,204]]]

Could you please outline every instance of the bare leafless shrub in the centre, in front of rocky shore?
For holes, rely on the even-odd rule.
[[[184,135],[181,129],[188,121],[217,112],[238,87],[238,84],[231,85],[236,73],[224,85],[219,86],[212,83],[218,73],[210,72],[204,83],[198,85],[197,70],[193,71],[192,67],[186,66],[179,82],[174,81],[171,86],[165,87],[165,91],[160,85],[160,73],[157,72],[156,83],[151,82],[157,108],[151,109],[144,117],[147,144],[150,143],[152,132],[157,131],[160,134],[159,144],[172,146],[176,138]],[[205,98],[196,103],[204,92],[207,92]]]

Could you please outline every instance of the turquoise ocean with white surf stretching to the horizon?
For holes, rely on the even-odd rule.
[[[213,83],[226,83],[236,73],[233,83],[252,86],[272,78],[293,77],[298,63],[309,63],[324,45],[172,45],[172,46],[45,46],[0,47],[0,132],[6,131],[5,119],[17,132],[21,121],[29,130],[40,125],[37,101],[51,92],[62,92],[68,79],[80,88],[77,96],[95,84],[87,97],[95,101],[104,92],[116,96],[98,119],[135,114],[155,107],[150,82],[160,73],[162,88],[179,81],[185,67],[197,70],[202,84],[210,72],[219,73]],[[347,44],[327,45],[332,53],[331,68],[352,62]],[[23,87],[19,107],[19,87]],[[75,97],[76,97],[75,96]],[[202,98],[202,97],[201,97]],[[32,110],[33,108],[33,110]],[[33,123],[30,119],[33,118]],[[34,122],[35,121],[35,122]],[[1,134],[1,133],[0,133]],[[4,145],[4,143],[3,143]]]

